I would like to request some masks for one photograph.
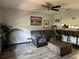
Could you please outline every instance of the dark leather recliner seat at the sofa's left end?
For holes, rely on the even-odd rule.
[[[32,42],[36,47],[47,45],[47,39],[43,31],[32,31]]]

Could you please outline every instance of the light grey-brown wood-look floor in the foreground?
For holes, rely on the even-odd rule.
[[[0,59],[49,59],[49,52],[48,46],[36,48],[32,43],[26,43],[12,46],[10,51],[6,50],[0,56]],[[69,55],[52,59],[79,59],[79,51],[73,49]]]

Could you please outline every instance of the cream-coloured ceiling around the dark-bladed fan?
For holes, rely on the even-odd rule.
[[[79,10],[79,0],[0,0],[0,6],[32,11],[40,9],[40,5],[50,2],[53,5],[62,5],[61,9]]]

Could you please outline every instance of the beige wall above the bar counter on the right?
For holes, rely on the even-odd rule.
[[[79,25],[79,11],[69,11],[55,15],[61,19],[61,22],[54,24],[67,24],[67,25]],[[72,19],[75,17],[75,19]]]

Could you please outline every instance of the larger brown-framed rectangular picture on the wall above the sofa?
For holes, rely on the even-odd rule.
[[[42,25],[42,17],[30,16],[30,25],[31,26],[41,26]]]

